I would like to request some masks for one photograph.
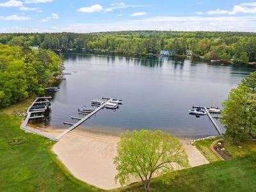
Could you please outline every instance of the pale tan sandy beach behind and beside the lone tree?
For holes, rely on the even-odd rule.
[[[41,131],[56,136],[63,129]],[[120,187],[114,179],[117,172],[113,164],[118,141],[117,136],[74,130],[63,136],[52,147],[52,151],[77,179],[98,188],[113,189]],[[193,145],[189,144],[189,140],[181,141],[184,143],[191,166],[209,163]]]

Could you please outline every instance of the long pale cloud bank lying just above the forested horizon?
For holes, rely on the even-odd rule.
[[[99,31],[122,30],[161,30],[161,31],[249,31],[256,32],[255,17],[150,17],[148,19],[132,19],[102,22],[74,23],[47,28],[0,28],[1,33],[15,32],[76,32],[90,33]]]

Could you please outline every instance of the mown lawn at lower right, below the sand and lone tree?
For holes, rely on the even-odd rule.
[[[217,161],[203,166],[179,171],[170,184],[163,184],[159,178],[153,179],[152,191],[255,191],[256,154],[237,157],[229,161]],[[135,183],[120,191],[143,191]]]

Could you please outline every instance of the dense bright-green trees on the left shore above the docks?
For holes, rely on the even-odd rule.
[[[0,108],[44,93],[61,72],[61,59],[50,50],[0,43]]]

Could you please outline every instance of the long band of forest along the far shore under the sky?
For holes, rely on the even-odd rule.
[[[97,50],[125,54],[189,55],[230,63],[255,64],[256,33],[116,31],[102,33],[4,33],[0,43],[51,50]]]

